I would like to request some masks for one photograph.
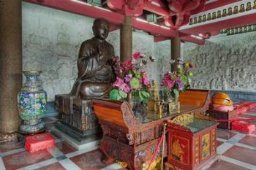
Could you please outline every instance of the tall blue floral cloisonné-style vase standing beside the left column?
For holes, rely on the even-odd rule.
[[[23,71],[26,82],[18,93],[18,110],[23,124],[20,133],[35,134],[45,129],[42,121],[46,112],[46,92],[42,89],[39,75],[41,71]]]

